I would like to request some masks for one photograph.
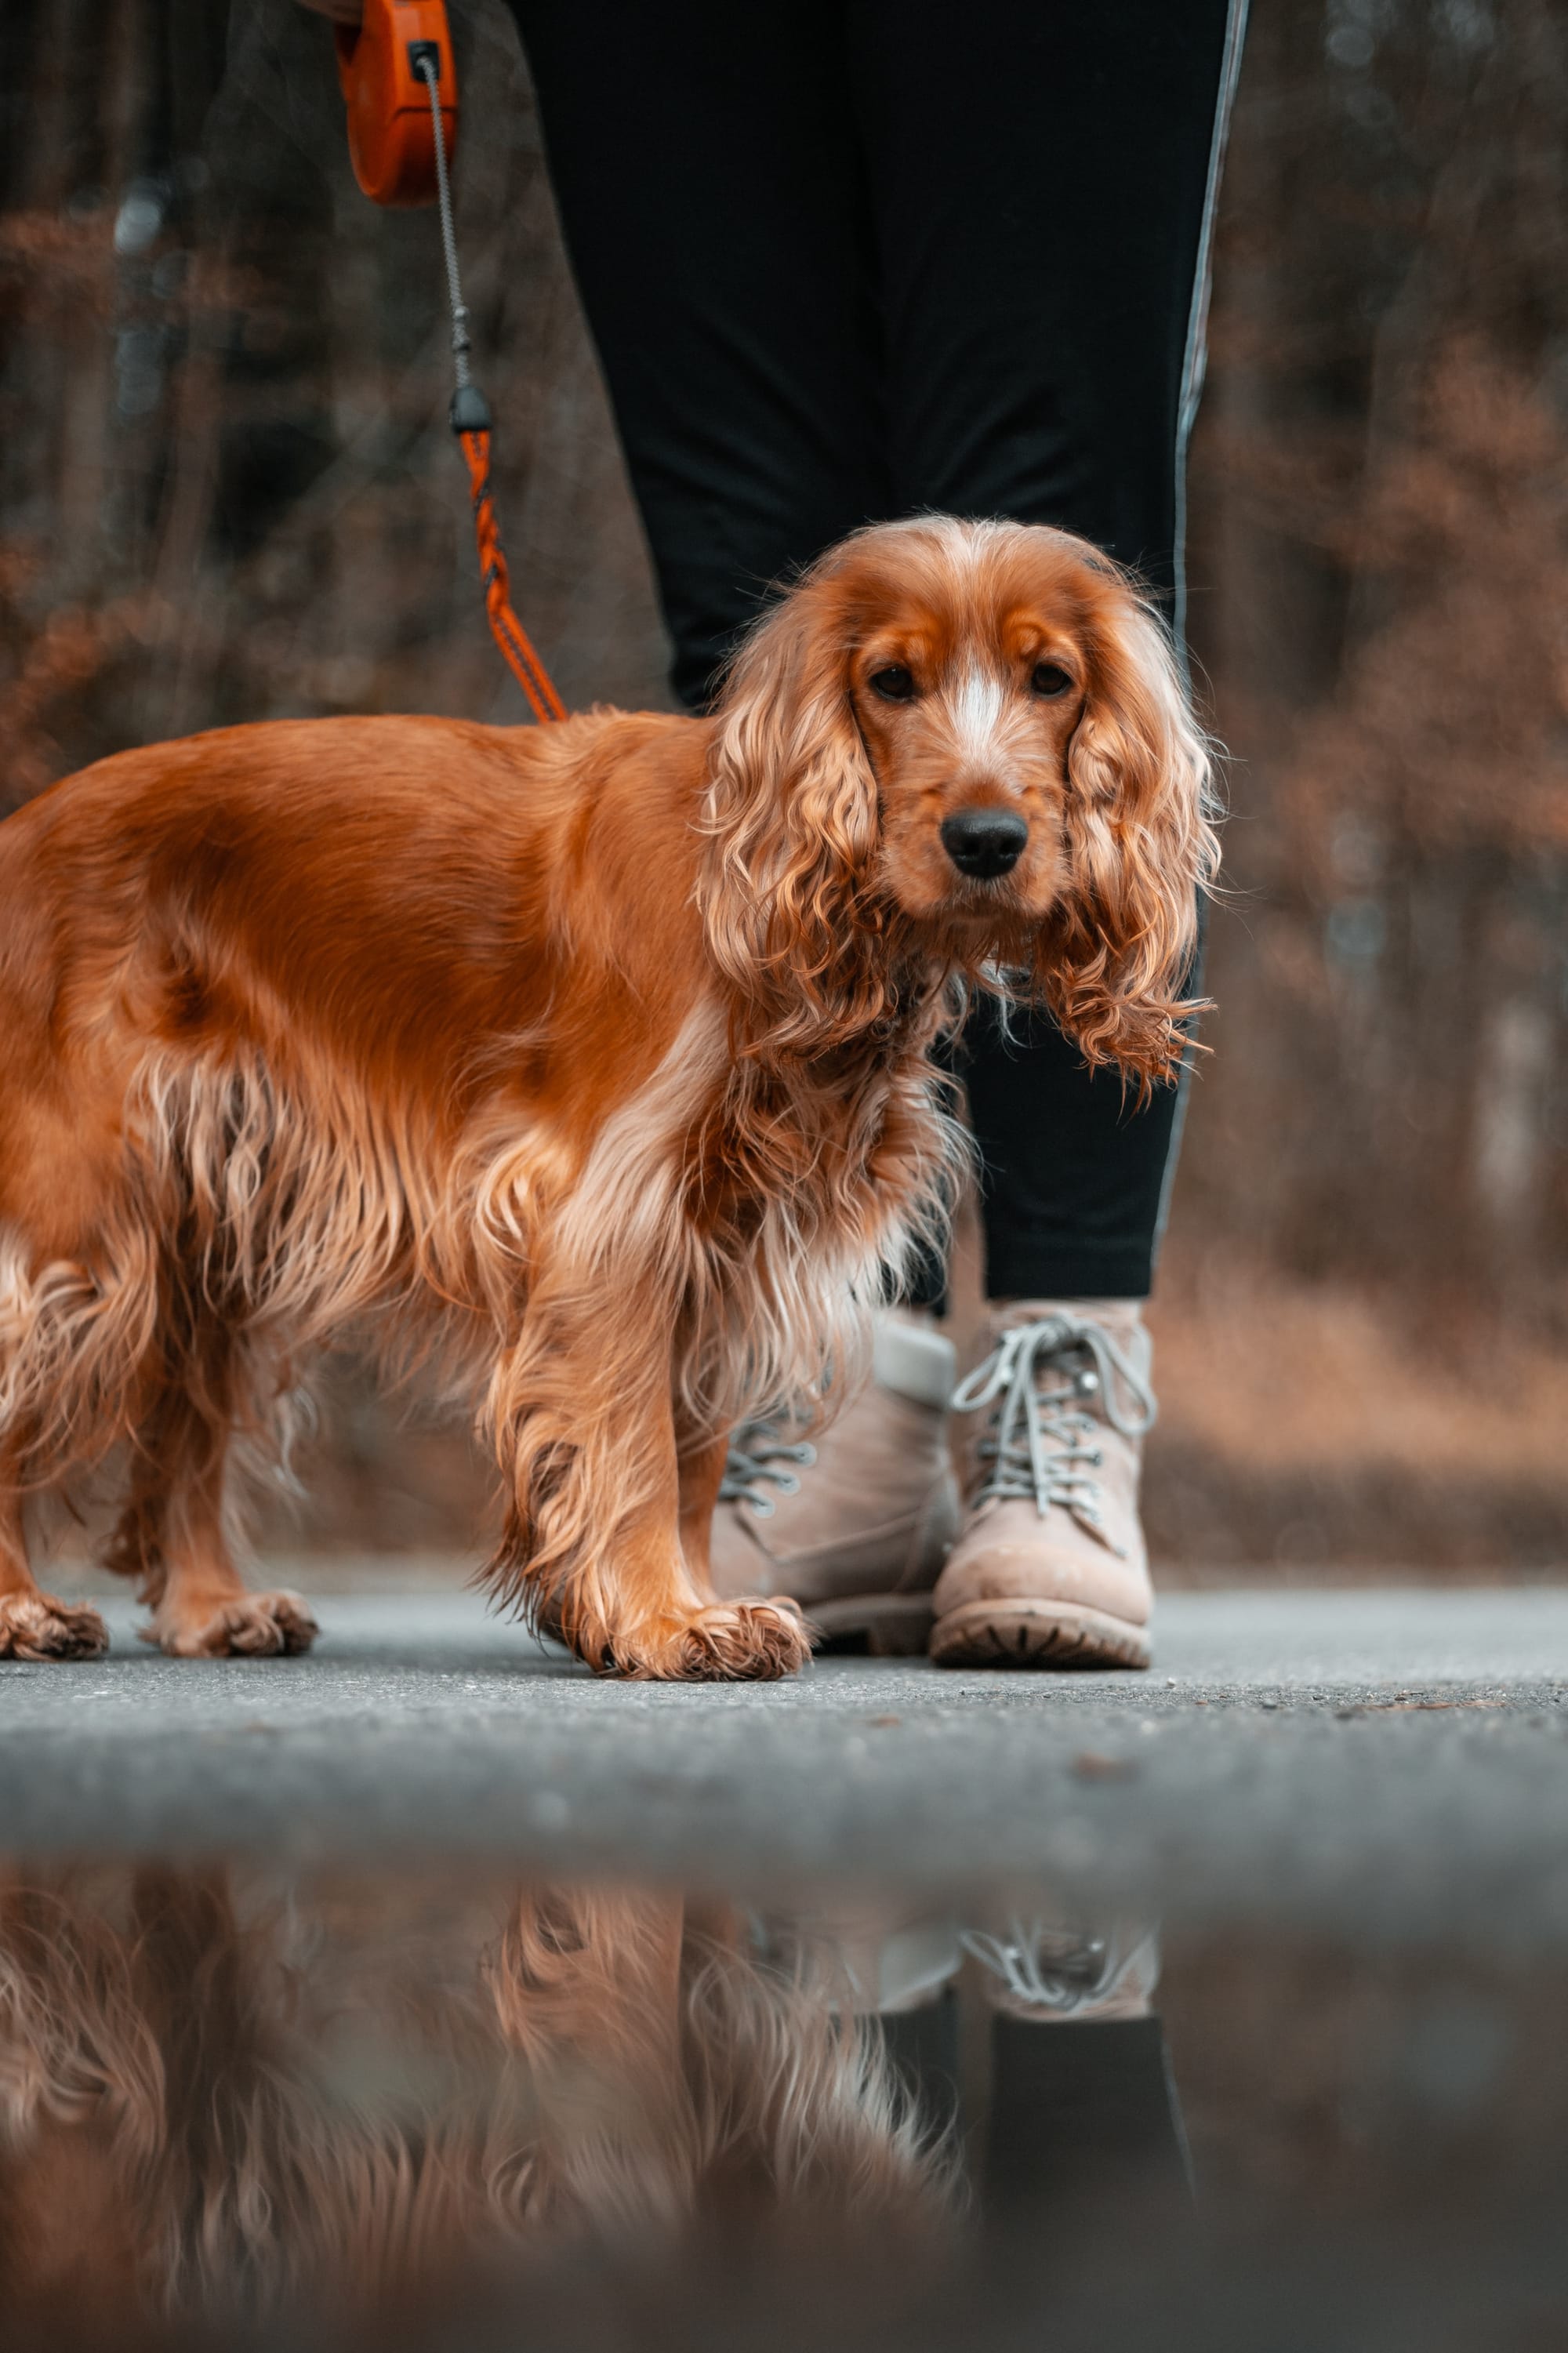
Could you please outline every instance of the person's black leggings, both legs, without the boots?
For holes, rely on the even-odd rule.
[[[1182,468],[1243,0],[513,0],[702,708],[768,591],[937,508],[1083,532],[1182,626]],[[965,1040],[986,1287],[1149,1289],[1180,1089]]]

